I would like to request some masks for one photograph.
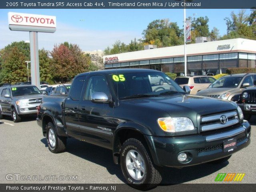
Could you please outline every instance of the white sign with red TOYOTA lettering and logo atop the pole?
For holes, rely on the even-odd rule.
[[[10,30],[55,32],[56,16],[9,12],[8,24]]]

